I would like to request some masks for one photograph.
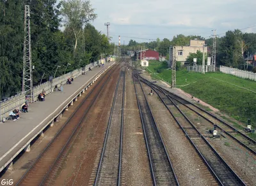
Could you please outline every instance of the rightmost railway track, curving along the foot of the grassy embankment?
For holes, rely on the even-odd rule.
[[[149,83],[156,90],[159,90],[159,91],[163,92],[164,94],[168,95],[168,97],[170,99],[172,99],[174,101],[174,103],[182,104],[189,110],[193,111],[200,117],[207,120],[210,124],[212,124],[212,126],[214,124],[216,124],[218,129],[220,129],[220,131],[227,134],[227,136],[229,136],[230,138],[232,138],[232,140],[235,140],[237,143],[242,145],[244,148],[246,148],[248,151],[250,151],[253,155],[256,155],[256,141],[253,140],[252,138],[246,136],[246,134],[243,134],[243,132],[238,131],[236,128],[232,127],[230,124],[227,124],[227,122],[221,120],[220,118],[216,117],[212,113],[209,113],[209,111],[206,111],[206,110],[200,108],[196,104],[193,104],[185,99],[182,99],[182,97],[172,94],[171,92],[168,92],[167,90],[159,87],[158,85],[155,85],[154,83],[150,83],[145,79],[143,79],[143,82]],[[237,135],[237,134],[239,134],[239,135]]]

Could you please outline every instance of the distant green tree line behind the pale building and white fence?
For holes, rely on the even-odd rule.
[[[178,34],[172,40],[164,38],[162,41],[157,38],[156,41],[137,43],[134,40],[129,41],[128,47],[132,50],[136,48],[140,50],[141,47],[157,50],[159,55],[166,56],[168,59],[170,46],[186,46],[189,45],[191,39],[205,40],[205,44],[209,48],[207,55],[212,55],[212,38],[205,39],[202,36],[184,36]],[[227,31],[224,36],[216,38],[216,62],[220,66],[230,66],[233,68],[244,68],[244,58],[256,54],[256,34],[243,33],[238,29],[234,31]],[[188,57],[188,62],[193,62],[193,57],[202,59],[202,52],[198,51]],[[200,60],[202,64],[202,60]],[[252,69],[252,66],[250,67]],[[248,67],[246,67],[248,69]]]

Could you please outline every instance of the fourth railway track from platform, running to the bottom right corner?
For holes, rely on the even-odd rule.
[[[208,143],[205,137],[198,131],[198,129],[196,129],[195,125],[188,119],[188,117],[186,117],[186,115],[184,115],[184,113],[179,109],[179,106],[172,101],[168,94],[161,91],[159,88],[156,89],[156,87],[152,86],[152,83],[145,83],[157,93],[218,183],[220,183],[220,185],[246,185],[246,183],[241,180],[241,178]],[[175,117],[177,114],[181,114],[185,119]]]

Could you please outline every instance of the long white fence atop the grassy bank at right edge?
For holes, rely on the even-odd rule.
[[[242,71],[240,69],[229,68],[227,66],[220,66],[220,71],[221,71],[221,73],[225,73],[228,75],[234,75],[239,78],[250,79],[250,80],[256,81],[256,73],[252,73],[249,71]]]

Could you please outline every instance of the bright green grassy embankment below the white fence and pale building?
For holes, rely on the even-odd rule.
[[[160,77],[166,82],[172,82],[172,71],[166,68],[166,64],[157,61],[151,61],[148,66],[150,71],[157,73],[157,75],[151,74],[152,78],[159,79]],[[180,89],[211,104],[215,108],[218,108],[218,110],[227,113],[230,117],[243,123],[246,123],[247,119],[251,118],[252,124],[256,127],[256,93],[245,90],[249,89],[256,92],[255,81],[244,80],[220,72],[205,73],[205,75],[201,73],[188,73],[186,69],[177,71],[176,76],[177,87]],[[234,85],[230,85],[226,82]],[[179,85],[186,86],[182,87]],[[236,87],[235,85],[243,87],[244,89]],[[235,127],[239,127],[235,122],[230,120],[228,122],[232,123]],[[244,127],[245,126],[244,124]],[[256,134],[250,134],[250,136],[256,139]]]

